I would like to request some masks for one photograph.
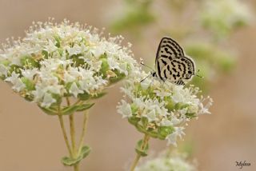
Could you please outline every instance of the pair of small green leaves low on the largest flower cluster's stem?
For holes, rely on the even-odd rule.
[[[81,149],[77,158],[62,157],[63,165],[72,166],[72,165],[78,164],[80,161],[82,161],[83,158],[85,158],[89,155],[90,150],[91,150],[90,147],[85,145],[85,146],[82,147],[82,149]]]

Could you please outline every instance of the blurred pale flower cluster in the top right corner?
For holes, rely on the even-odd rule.
[[[222,37],[250,20],[250,10],[239,0],[213,0],[204,2],[202,24]]]

